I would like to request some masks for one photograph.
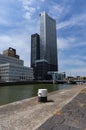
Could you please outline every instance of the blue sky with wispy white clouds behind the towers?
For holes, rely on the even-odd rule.
[[[13,47],[30,66],[31,34],[40,33],[40,12],[56,20],[59,72],[86,76],[85,0],[0,0],[0,53]]]

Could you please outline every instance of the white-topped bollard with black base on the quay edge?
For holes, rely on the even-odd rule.
[[[38,101],[47,102],[47,89],[38,89]]]

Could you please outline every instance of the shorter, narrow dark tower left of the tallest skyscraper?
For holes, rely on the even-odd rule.
[[[31,67],[34,67],[38,59],[40,59],[40,38],[36,33],[31,35]]]

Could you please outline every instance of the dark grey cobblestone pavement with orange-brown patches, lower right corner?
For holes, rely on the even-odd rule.
[[[37,130],[86,130],[86,89]]]

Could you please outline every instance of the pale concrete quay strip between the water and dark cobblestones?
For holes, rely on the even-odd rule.
[[[0,130],[36,130],[76,97],[86,85],[76,85],[48,94],[48,102],[38,97],[0,106]]]

